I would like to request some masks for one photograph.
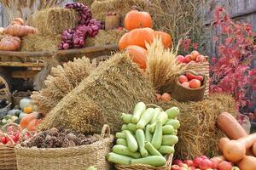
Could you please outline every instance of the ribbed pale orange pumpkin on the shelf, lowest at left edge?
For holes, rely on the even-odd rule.
[[[0,50],[2,51],[16,51],[20,48],[20,37],[4,37],[0,42]]]

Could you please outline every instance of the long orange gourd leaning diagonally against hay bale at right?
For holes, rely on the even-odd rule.
[[[229,137],[229,139],[240,139],[247,136],[247,132],[241,127],[236,118],[230,113],[223,112],[218,116],[218,127]]]

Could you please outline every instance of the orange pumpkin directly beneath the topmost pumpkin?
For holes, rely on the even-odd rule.
[[[128,45],[137,45],[146,48],[146,43],[153,42],[154,30],[151,28],[137,28],[132,30],[127,37]]]

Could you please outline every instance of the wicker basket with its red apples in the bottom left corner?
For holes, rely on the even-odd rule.
[[[15,170],[15,145],[30,138],[31,133],[21,131],[20,126],[9,123],[0,130],[0,167],[1,170]]]

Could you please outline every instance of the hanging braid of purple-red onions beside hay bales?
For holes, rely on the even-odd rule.
[[[95,37],[103,29],[102,22],[92,19],[90,8],[83,3],[67,3],[65,8],[79,12],[79,25],[62,32],[59,49],[84,48],[86,38]]]

